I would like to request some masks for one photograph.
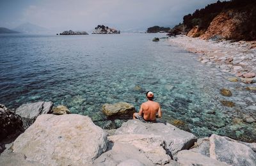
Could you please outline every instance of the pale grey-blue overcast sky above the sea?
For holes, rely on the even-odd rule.
[[[184,15],[217,0],[0,0],[0,27],[30,22],[51,31],[173,27]]]

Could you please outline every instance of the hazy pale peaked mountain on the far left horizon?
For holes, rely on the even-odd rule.
[[[21,33],[49,33],[50,32],[50,30],[45,27],[36,26],[35,24],[31,24],[29,22],[21,24],[20,26],[15,27],[15,29],[13,30],[19,31]]]

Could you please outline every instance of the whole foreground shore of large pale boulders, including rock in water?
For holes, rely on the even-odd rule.
[[[37,102],[16,110],[17,119],[29,127],[5,145],[1,165],[256,165],[256,143],[215,134],[196,138],[169,123],[139,120],[103,130],[88,116],[52,106],[52,102]],[[6,111],[14,112],[1,107],[1,117]],[[104,105],[102,111],[120,116],[134,109],[120,102]]]

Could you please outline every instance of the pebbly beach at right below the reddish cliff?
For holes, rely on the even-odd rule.
[[[169,38],[172,45],[182,47],[198,54],[198,61],[215,65],[221,72],[228,72],[234,78],[232,82],[256,83],[256,42],[202,40],[185,35]]]

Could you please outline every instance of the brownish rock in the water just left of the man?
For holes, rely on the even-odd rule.
[[[135,107],[130,103],[118,102],[114,104],[105,103],[102,106],[102,112],[106,116],[118,116],[121,118],[131,118],[135,112]]]

